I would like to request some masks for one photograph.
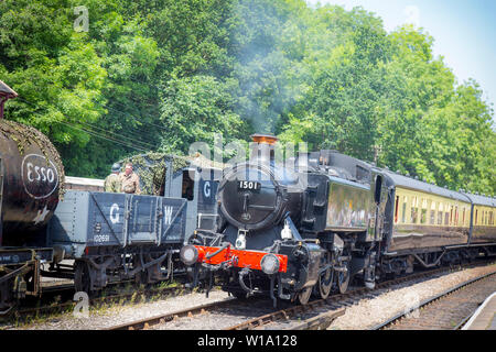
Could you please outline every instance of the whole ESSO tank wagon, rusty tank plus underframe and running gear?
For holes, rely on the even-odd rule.
[[[17,94],[0,81],[0,315],[25,295],[41,293],[40,272],[51,262],[46,224],[64,182],[61,157],[40,131],[3,120]]]

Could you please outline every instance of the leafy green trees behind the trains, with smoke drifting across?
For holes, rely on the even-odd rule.
[[[77,32],[75,7],[88,9]],[[68,174],[187,154],[193,142],[336,148],[451,188],[496,193],[494,112],[433,38],[362,8],[302,0],[4,0],[7,119],[55,143]],[[227,156],[227,155],[225,155]]]

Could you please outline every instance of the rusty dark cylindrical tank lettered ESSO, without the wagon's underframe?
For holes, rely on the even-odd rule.
[[[50,140],[37,130],[0,120],[3,246],[35,244],[62,194],[64,166]]]

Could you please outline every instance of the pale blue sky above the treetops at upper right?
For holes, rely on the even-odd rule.
[[[424,29],[434,38],[434,56],[444,57],[459,84],[475,79],[496,110],[495,0],[306,0],[319,2],[346,10],[362,6],[381,18],[388,32],[405,23]]]

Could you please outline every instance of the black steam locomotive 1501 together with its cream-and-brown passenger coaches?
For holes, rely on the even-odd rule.
[[[236,297],[306,304],[384,276],[496,254],[496,200],[451,191],[335,151],[276,162],[254,135],[249,162],[226,169],[216,231],[197,229],[181,258]]]

